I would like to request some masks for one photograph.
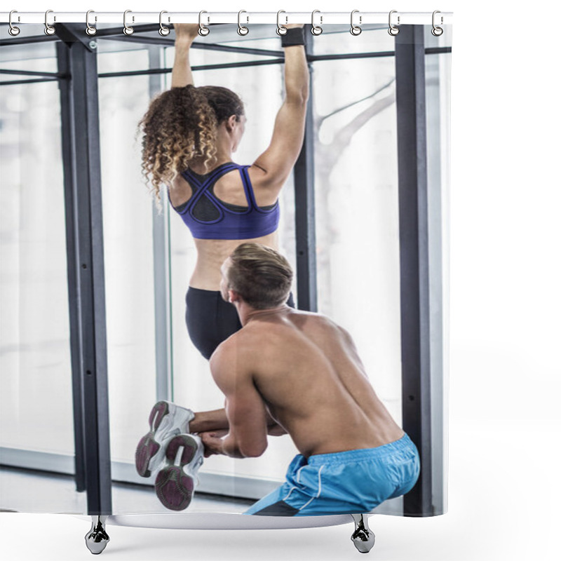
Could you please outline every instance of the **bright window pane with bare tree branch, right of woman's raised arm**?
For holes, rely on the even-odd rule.
[[[343,53],[359,39],[370,52],[386,43],[384,34],[327,39]],[[395,59],[314,62],[313,69],[319,311],[349,330],[374,389],[400,423]]]

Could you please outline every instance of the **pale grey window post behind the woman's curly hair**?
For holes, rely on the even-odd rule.
[[[149,46],[149,68],[163,68],[163,47]],[[149,95],[163,89],[163,74],[149,76]],[[154,252],[154,320],[156,327],[156,400],[173,400],[173,360],[170,288],[170,221],[169,205],[161,212],[152,207]]]

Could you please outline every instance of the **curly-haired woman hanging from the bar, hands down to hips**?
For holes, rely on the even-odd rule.
[[[238,165],[232,153],[245,128],[243,103],[227,88],[194,86],[189,49],[198,25],[174,27],[172,87],[151,102],[140,122],[142,168],[156,198],[160,185],[168,186],[171,205],[194,237],[187,329],[210,358],[241,327],[234,306],[220,296],[220,266],[243,241],[278,249],[278,195],[302,148],[309,72],[303,26],[287,25],[285,99],[271,143],[252,165]]]

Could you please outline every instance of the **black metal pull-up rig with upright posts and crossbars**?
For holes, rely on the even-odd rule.
[[[83,25],[57,24],[62,39],[57,47],[59,72],[0,71],[3,74],[42,76],[6,81],[1,85],[58,80],[61,89],[63,158],[72,372],[76,433],[76,486],[88,492],[88,513],[111,513],[107,358],[104,321],[100,148],[97,121],[97,79],[113,76],[163,74],[168,68],[97,74],[95,46]],[[140,36],[154,25],[135,26],[136,36],[124,37],[121,27],[100,29],[97,38],[173,46],[171,39]],[[0,40],[0,46],[56,37]],[[269,58],[241,63],[204,65],[193,70],[273,65],[283,62],[275,50],[195,43],[194,48],[243,52]],[[450,47],[425,48],[424,27],[400,26],[396,50],[348,55],[313,55],[312,63],[350,58],[396,58],[398,107],[398,176],[400,217],[401,344],[403,426],[419,448],[421,477],[404,498],[405,515],[431,515],[431,372],[428,278],[428,210],[426,180],[426,111],[424,56],[450,53]],[[152,65],[151,65],[152,66]],[[309,97],[306,135],[295,165],[297,287],[299,308],[317,309],[316,248],[313,200],[313,92]],[[80,165],[77,165],[77,162]],[[95,241],[95,243],[94,243]]]

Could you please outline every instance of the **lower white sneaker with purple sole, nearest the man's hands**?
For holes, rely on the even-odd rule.
[[[166,465],[156,475],[156,495],[165,508],[183,511],[191,503],[198,468],[203,465],[203,442],[194,434],[180,434],[165,449]]]

